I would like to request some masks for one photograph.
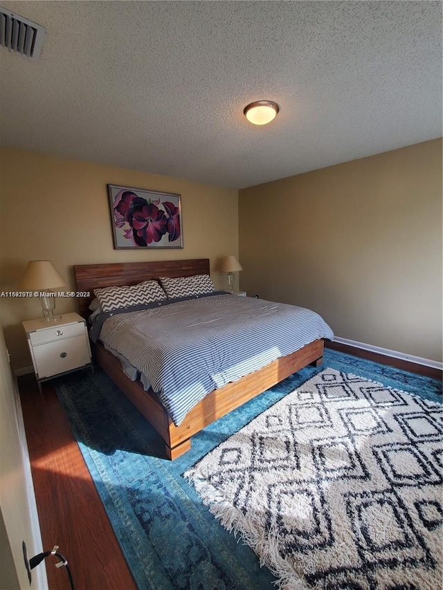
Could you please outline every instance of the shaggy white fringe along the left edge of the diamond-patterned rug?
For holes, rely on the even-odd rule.
[[[304,573],[296,569],[284,560],[278,549],[278,532],[271,530],[265,536],[260,533],[261,527],[246,519],[236,508],[224,501],[217,490],[202,479],[195,469],[183,473],[190,483],[193,484],[197,493],[208,506],[224,528],[235,537],[241,537],[244,544],[250,546],[260,559],[260,567],[266,565],[278,580],[273,582],[279,590],[320,590],[322,584],[311,586],[305,578]]]

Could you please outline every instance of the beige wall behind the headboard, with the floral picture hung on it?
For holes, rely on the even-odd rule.
[[[114,250],[107,183],[181,194],[183,249]],[[219,258],[238,255],[237,191],[145,172],[46,156],[0,151],[0,291],[16,291],[26,264],[51,259],[74,287],[74,264],[210,258],[216,286]],[[40,317],[38,299],[0,299],[15,369],[30,365],[23,320]],[[75,311],[57,299],[57,311]]]

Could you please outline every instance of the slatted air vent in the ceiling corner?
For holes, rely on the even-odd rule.
[[[44,33],[44,27],[0,7],[0,46],[38,59]]]

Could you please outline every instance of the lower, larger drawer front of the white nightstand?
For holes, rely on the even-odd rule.
[[[63,330],[66,327],[71,326],[63,326]],[[72,371],[91,362],[84,327],[81,336],[64,338],[60,342],[46,342],[33,347],[33,355],[39,379]]]

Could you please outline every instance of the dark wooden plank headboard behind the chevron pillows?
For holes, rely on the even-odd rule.
[[[79,297],[80,315],[87,318],[93,290],[111,285],[136,285],[159,277],[192,277],[209,275],[209,259],[165,260],[158,262],[121,262],[115,264],[82,264],[74,266],[77,291],[89,293]]]

